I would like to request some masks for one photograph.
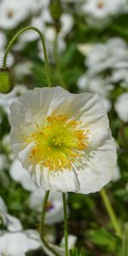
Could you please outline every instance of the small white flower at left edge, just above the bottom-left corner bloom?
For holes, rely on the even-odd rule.
[[[22,225],[18,218],[10,215],[7,211],[7,207],[3,201],[3,198],[0,196],[0,216],[3,219],[3,224],[11,232],[16,232],[22,230]]]

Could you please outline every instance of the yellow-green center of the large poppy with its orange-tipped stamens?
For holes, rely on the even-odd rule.
[[[37,126],[37,131],[26,137],[27,143],[35,143],[29,157],[50,171],[70,170],[88,144],[89,130],[81,130],[79,125],[65,115],[51,114],[42,127]]]

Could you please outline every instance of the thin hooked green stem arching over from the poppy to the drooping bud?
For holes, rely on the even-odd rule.
[[[4,57],[3,57],[3,68],[7,67],[7,56],[9,54],[10,48],[15,43],[15,40],[20,36],[21,33],[26,32],[28,30],[33,30],[35,32],[38,32],[38,34],[40,36],[42,46],[43,46],[43,50],[44,50],[44,61],[45,61],[45,67],[46,67],[46,79],[47,79],[48,86],[50,87],[51,86],[51,81],[50,81],[50,76],[49,76],[49,63],[48,63],[47,50],[46,50],[46,45],[45,45],[45,41],[44,41],[44,36],[43,36],[42,32],[40,32],[38,30],[38,28],[35,27],[35,26],[26,26],[26,27],[20,29],[20,31],[15,34],[14,38],[11,39],[11,41],[9,42],[9,44],[7,46],[7,49],[5,50],[5,54],[4,54]]]

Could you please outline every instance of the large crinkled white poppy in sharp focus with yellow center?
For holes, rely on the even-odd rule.
[[[15,156],[44,190],[96,192],[113,176],[116,148],[100,96],[28,90],[10,107]]]

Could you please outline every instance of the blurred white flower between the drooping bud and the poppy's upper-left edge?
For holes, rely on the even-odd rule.
[[[9,106],[11,102],[15,100],[18,96],[24,94],[26,91],[26,86],[24,85],[15,85],[14,90],[8,94],[0,93],[0,106],[3,107],[4,111],[9,114]]]

